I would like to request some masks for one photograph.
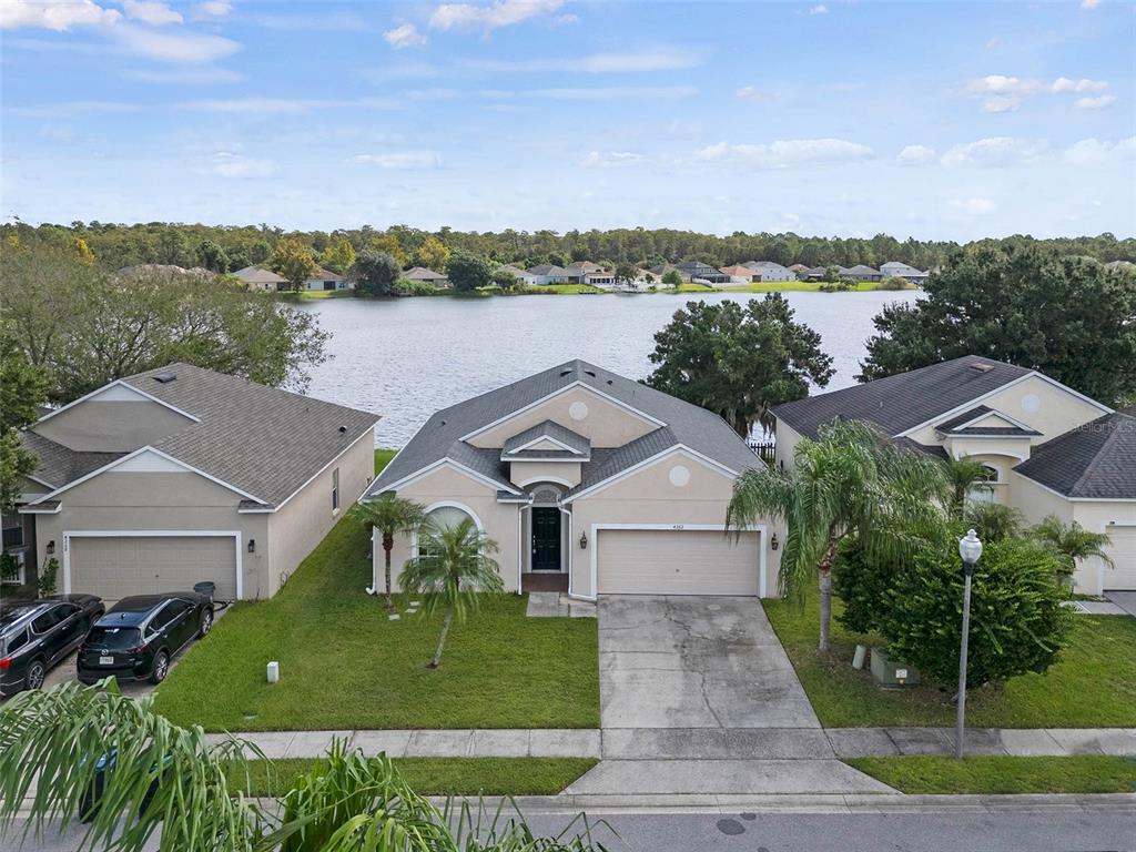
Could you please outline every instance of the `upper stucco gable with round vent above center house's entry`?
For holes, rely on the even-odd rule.
[[[586,407],[586,415],[582,419],[571,416],[573,404],[577,402]],[[576,409],[577,416],[582,412],[583,409]],[[659,428],[586,387],[573,387],[477,435],[469,443],[483,448],[503,446],[513,435],[544,420],[552,420],[584,435],[592,442],[592,446],[623,446],[628,441]]]

